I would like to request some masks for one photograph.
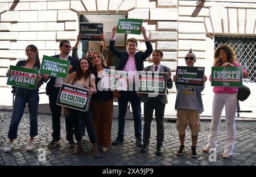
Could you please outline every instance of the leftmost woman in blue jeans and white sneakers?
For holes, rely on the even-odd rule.
[[[28,45],[26,47],[27,60],[18,61],[16,66],[40,69],[40,60],[38,57],[38,48],[35,45]],[[10,70],[7,71],[6,75],[10,74]],[[14,140],[17,138],[18,125],[22,119],[24,108],[28,105],[30,112],[30,140],[27,142],[27,151],[35,149],[33,144],[34,137],[38,135],[38,103],[39,103],[39,87],[43,84],[41,75],[38,73],[38,85],[36,89],[28,89],[22,87],[14,87],[15,100],[13,105],[13,114],[11,115],[11,122],[8,132],[8,138],[10,139],[7,143],[5,153],[9,153],[14,147]]]

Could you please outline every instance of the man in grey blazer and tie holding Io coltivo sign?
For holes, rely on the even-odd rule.
[[[167,87],[172,88],[171,70],[170,68],[160,64],[163,58],[163,52],[161,50],[154,50],[152,54],[153,65],[144,68],[144,71],[154,72],[167,72]],[[164,108],[168,103],[166,95],[143,95],[142,102],[144,103],[144,127],[143,127],[143,145],[141,147],[141,153],[145,153],[148,150],[148,144],[150,142],[150,126],[155,109],[156,119],[156,155],[162,155],[162,145],[164,139]]]

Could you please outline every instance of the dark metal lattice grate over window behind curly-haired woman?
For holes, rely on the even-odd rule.
[[[215,36],[214,49],[227,44],[234,49],[238,62],[249,73],[243,81],[256,82],[256,37]]]

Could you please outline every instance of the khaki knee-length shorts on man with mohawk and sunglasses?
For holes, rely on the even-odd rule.
[[[200,130],[199,111],[190,109],[177,109],[176,128],[181,135],[185,135],[188,127],[191,129],[191,135],[196,136]]]

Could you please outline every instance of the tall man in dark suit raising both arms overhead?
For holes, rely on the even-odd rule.
[[[129,79],[128,91],[119,91],[120,97],[118,98],[118,135],[116,140],[112,142],[112,145],[114,146],[120,145],[123,142],[123,136],[125,135],[125,115],[129,100],[131,103],[131,108],[133,109],[136,144],[139,147],[141,147],[143,144],[141,136],[141,98],[136,94],[134,78],[137,77],[137,71],[143,70],[143,62],[147,59],[148,56],[150,56],[153,49],[146,35],[146,29],[144,27],[141,27],[140,29],[147,47],[147,49],[144,52],[136,52],[138,43],[137,40],[134,38],[127,39],[128,52],[126,50],[117,50],[117,48],[115,48],[115,35],[117,33],[117,27],[114,27],[112,29],[109,50],[119,59],[115,69],[129,72],[129,75],[131,75],[131,77],[129,76],[129,78],[131,79]]]

